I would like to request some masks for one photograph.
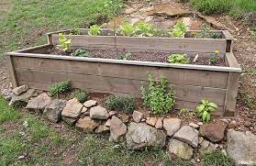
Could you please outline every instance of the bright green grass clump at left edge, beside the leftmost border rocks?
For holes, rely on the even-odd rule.
[[[0,96],[0,110],[0,125],[8,120],[15,121],[20,117],[17,109],[8,106],[2,96]]]

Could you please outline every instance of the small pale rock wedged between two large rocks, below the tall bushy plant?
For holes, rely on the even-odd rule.
[[[163,128],[167,131],[167,136],[173,136],[181,127],[182,120],[178,118],[164,118]]]

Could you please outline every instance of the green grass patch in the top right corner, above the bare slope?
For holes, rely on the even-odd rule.
[[[191,5],[206,15],[230,14],[243,17],[244,14],[256,11],[255,0],[191,0]]]

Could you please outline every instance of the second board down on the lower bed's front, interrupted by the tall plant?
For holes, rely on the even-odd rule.
[[[95,76],[87,74],[48,72],[37,70],[17,69],[18,81],[29,81],[38,83],[58,83],[66,80],[72,81],[72,87],[80,89],[96,89],[106,92],[121,94],[140,95],[139,80],[130,80],[117,77]],[[184,84],[174,84],[176,97],[179,100],[198,102],[202,98],[224,105],[226,96],[225,89],[206,88],[202,86],[191,86]]]

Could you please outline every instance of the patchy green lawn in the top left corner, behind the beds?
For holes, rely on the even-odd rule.
[[[10,0],[13,6],[0,19],[0,57],[6,51],[43,44],[45,33],[83,28],[115,17],[122,0]]]

